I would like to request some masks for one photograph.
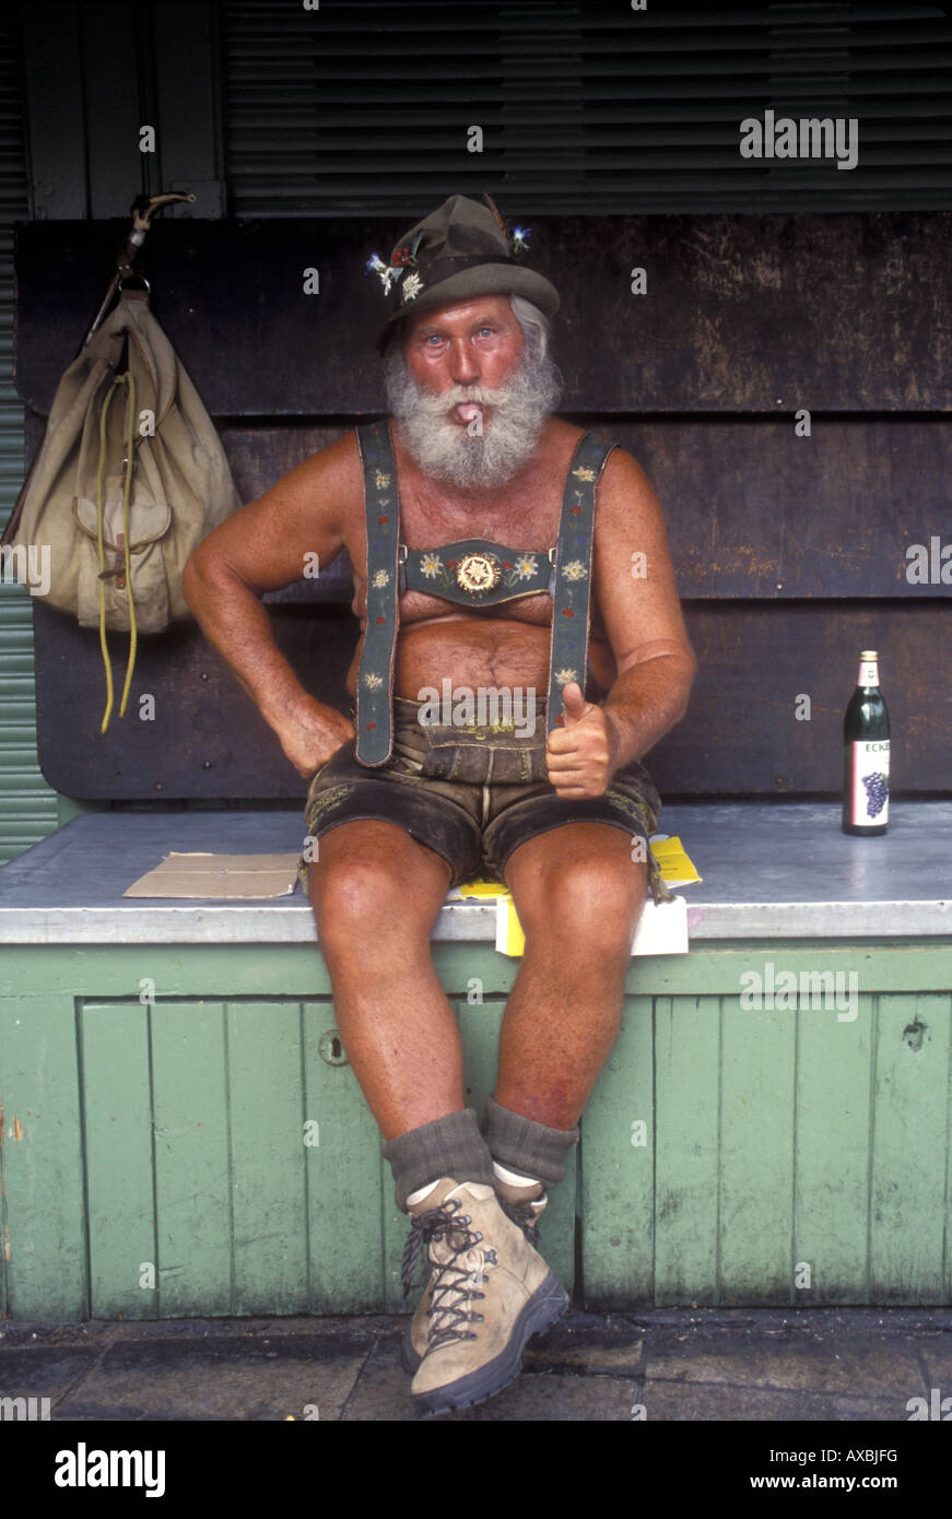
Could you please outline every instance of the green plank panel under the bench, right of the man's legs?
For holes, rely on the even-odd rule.
[[[947,992],[630,998],[583,1118],[586,1306],[949,1302],[950,1025]]]

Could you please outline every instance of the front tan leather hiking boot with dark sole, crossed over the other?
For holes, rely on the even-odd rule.
[[[568,1293],[506,1217],[492,1186],[442,1177],[410,1209],[404,1290],[424,1244],[430,1281],[415,1315],[427,1343],[410,1391],[422,1414],[469,1408],[509,1387],[533,1334],[569,1306]],[[419,1340],[418,1340],[419,1343]],[[404,1340],[413,1350],[413,1326]]]

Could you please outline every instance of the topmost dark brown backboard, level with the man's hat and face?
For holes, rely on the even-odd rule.
[[[506,211],[507,208],[503,207]],[[17,389],[49,412],[125,222],[17,223]],[[372,252],[393,219],[156,219],[153,310],[210,413],[383,407]],[[566,410],[947,412],[952,213],[534,217]],[[647,295],[632,270],[647,270]],[[320,290],[304,293],[307,269]]]

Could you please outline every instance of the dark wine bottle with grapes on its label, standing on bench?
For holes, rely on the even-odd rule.
[[[859,655],[859,674],[843,718],[843,832],[884,834],[890,823],[890,714],[879,690],[875,649]]]

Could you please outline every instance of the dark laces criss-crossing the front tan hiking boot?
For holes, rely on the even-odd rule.
[[[471,1329],[465,1329],[463,1325],[478,1322],[483,1317],[472,1312],[468,1306],[474,1299],[486,1297],[486,1293],[480,1293],[477,1288],[478,1282],[486,1281],[481,1267],[457,1265],[459,1256],[475,1249],[483,1238],[481,1233],[468,1227],[471,1218],[469,1214],[462,1212],[462,1206],[459,1197],[451,1197],[440,1203],[439,1208],[431,1208],[428,1212],[413,1218],[404,1246],[401,1265],[404,1297],[410,1294],[413,1287],[422,1284],[422,1271],[416,1282],[413,1281],[413,1273],[424,1261],[430,1267],[428,1274],[436,1277],[431,1308],[427,1312],[430,1318],[427,1353],[440,1344],[448,1344],[451,1340],[475,1340],[477,1335]],[[452,1252],[452,1258],[439,1264],[427,1259],[424,1250],[431,1241],[443,1241]],[[495,1250],[483,1252],[483,1265],[486,1264],[498,1265]],[[445,1322],[440,1323],[439,1320]]]

